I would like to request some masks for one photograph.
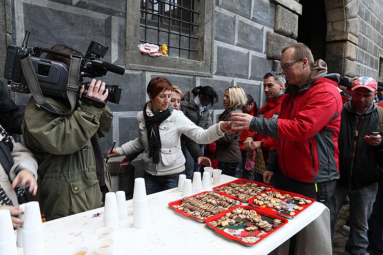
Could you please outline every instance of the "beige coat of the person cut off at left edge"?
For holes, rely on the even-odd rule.
[[[3,140],[3,138],[4,136],[0,134],[0,141]],[[7,175],[3,166],[0,164],[0,186],[4,189],[9,199],[11,199],[13,205],[16,206],[18,205],[18,201],[15,191],[12,189],[12,182],[22,169],[30,171],[35,176],[35,180],[37,180],[37,162],[31,151],[23,147],[21,143],[16,143],[13,137],[10,138],[13,143],[12,158],[14,163],[9,175]]]

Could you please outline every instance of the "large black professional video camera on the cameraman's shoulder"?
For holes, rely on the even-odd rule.
[[[125,73],[125,69],[122,67],[100,61],[100,58],[105,56],[107,50],[108,47],[92,41],[88,47],[85,57],[75,56],[82,58],[79,84],[81,83],[85,85],[86,91],[88,89],[89,82],[83,83],[83,78],[85,77],[101,77],[108,71],[121,75]],[[66,87],[69,73],[68,66],[62,62],[40,58],[42,53],[63,55],[62,53],[55,52],[54,50],[44,49],[41,47],[23,48],[14,45],[8,46],[4,77],[9,80],[9,89],[19,93],[31,93],[31,89],[23,75],[20,62],[22,58],[31,56],[31,62],[33,64],[33,68],[35,69],[43,95],[67,99],[68,96]],[[107,101],[118,104],[122,89],[118,88],[116,85],[106,85],[106,88],[109,89]]]

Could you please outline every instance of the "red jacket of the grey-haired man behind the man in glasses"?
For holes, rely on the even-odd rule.
[[[262,106],[262,108],[258,111],[258,118],[277,119],[278,114],[280,112],[280,105],[282,103],[283,97],[284,94],[275,96],[273,98],[267,98],[266,105]],[[269,150],[272,146],[274,146],[275,139],[255,132],[253,140],[263,142],[262,155],[264,156],[264,160],[266,162],[266,160],[269,158]]]

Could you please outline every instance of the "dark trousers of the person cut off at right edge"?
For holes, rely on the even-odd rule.
[[[371,255],[383,254],[383,180],[378,182],[378,192],[368,220],[368,248]]]

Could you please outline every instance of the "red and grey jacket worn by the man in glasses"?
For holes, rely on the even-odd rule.
[[[305,183],[339,179],[338,81],[339,74],[328,74],[296,94],[286,90],[278,121],[253,118],[251,129],[280,139],[276,148],[284,175]]]

